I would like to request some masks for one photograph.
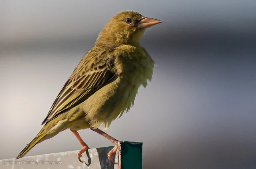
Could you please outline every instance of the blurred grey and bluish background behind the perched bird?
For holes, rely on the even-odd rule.
[[[141,39],[152,82],[107,133],[143,142],[144,169],[256,167],[256,1],[0,1],[0,159],[39,132],[52,102],[109,18],[162,20]],[[79,131],[89,147],[112,143]],[[64,131],[28,155],[81,149]]]

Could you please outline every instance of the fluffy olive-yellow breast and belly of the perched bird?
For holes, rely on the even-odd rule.
[[[147,81],[151,80],[153,67],[154,61],[148,54],[143,57],[118,57],[115,61],[116,78],[85,101],[83,110],[91,126],[97,128],[103,123],[107,129],[115,118],[128,112],[139,86],[146,87]]]

